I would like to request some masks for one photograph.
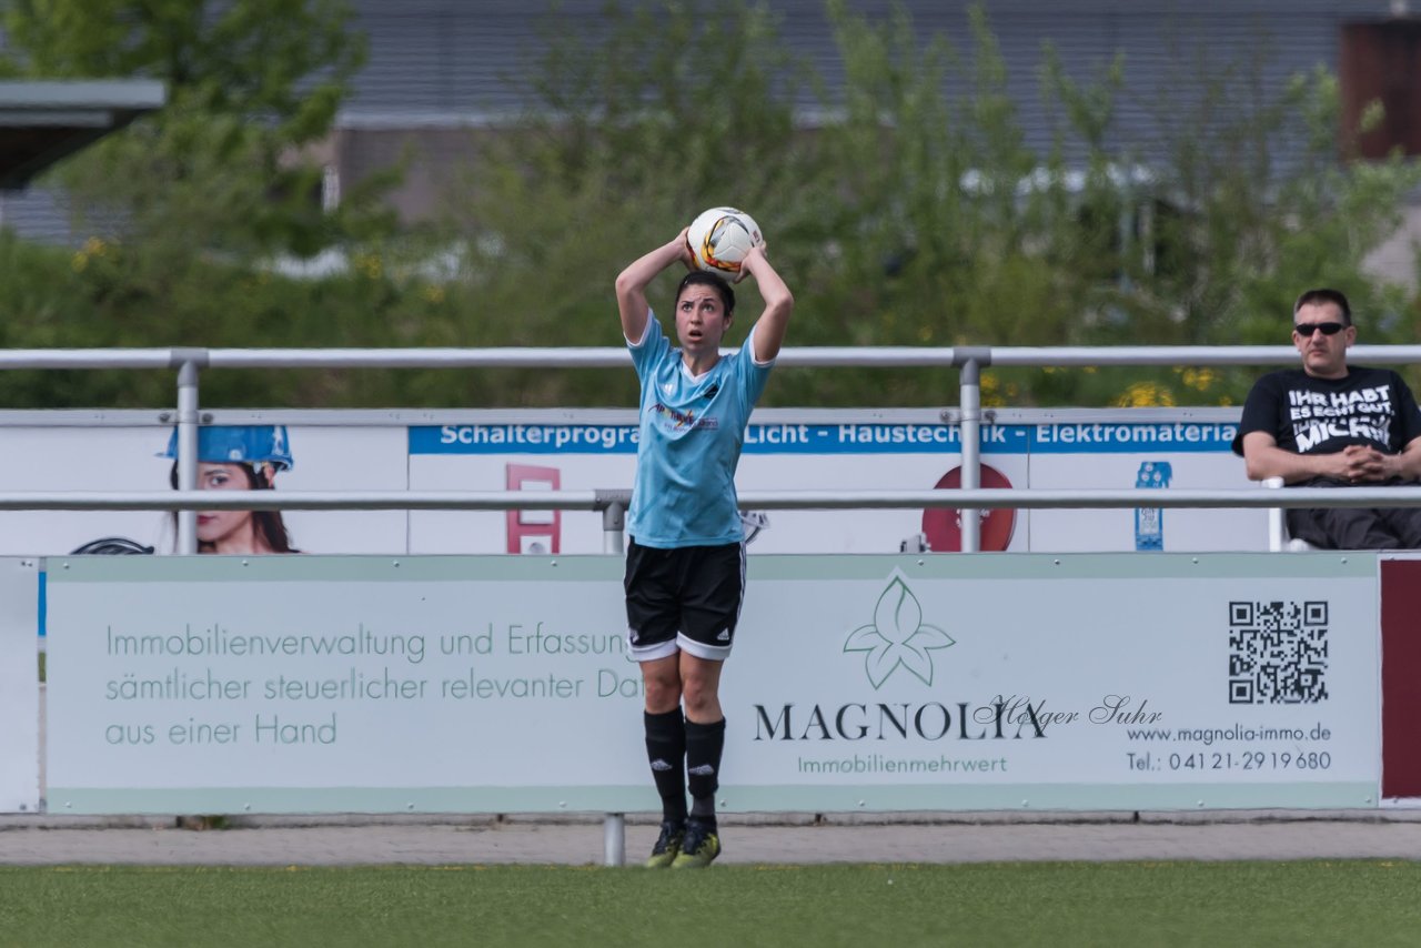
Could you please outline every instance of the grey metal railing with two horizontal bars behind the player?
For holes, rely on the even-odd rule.
[[[729,351],[729,350],[728,350]],[[1421,345],[1357,345],[1357,362],[1404,365],[1421,362]],[[742,506],[756,509],[887,509],[956,507],[962,512],[962,551],[979,550],[979,512],[993,507],[1135,507],[1131,490],[983,490],[980,488],[982,370],[988,367],[1114,367],[1114,365],[1292,365],[1297,351],[1290,345],[1125,345],[1125,347],[804,347],[783,350],[776,364],[794,367],[861,368],[955,368],[959,372],[958,409],[951,412],[961,428],[962,488],[918,492],[749,492]],[[178,375],[178,490],[149,493],[11,493],[0,495],[0,509],[48,510],[175,510],[178,551],[195,553],[196,512],[222,509],[404,509],[404,510],[603,510],[604,529],[618,526],[627,492],[549,492],[529,497],[519,492],[395,492],[395,493],[273,493],[223,492],[215,497],[196,490],[199,377],[205,370],[234,368],[630,368],[624,348],[384,348],[384,350],[270,350],[270,348],[135,348],[135,350],[7,350],[0,351],[0,370],[169,370]],[[1421,489],[1385,488],[1388,506],[1421,506]],[[1376,506],[1378,489],[1346,492],[1293,489],[1171,490],[1151,497],[1157,507],[1302,507]]]

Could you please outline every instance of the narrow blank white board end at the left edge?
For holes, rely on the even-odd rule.
[[[0,812],[40,809],[40,665],[34,623],[40,570],[0,559]]]

